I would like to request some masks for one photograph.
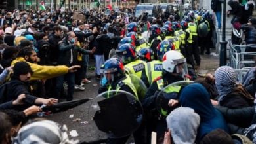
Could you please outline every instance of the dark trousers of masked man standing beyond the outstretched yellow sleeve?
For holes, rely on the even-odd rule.
[[[57,96],[57,98],[60,98],[60,94],[63,90],[64,80],[68,84],[68,96],[66,97],[66,100],[71,101],[71,100],[73,100],[73,94],[74,94],[75,73],[67,73],[65,75],[62,75],[62,76],[56,78],[56,96]]]

